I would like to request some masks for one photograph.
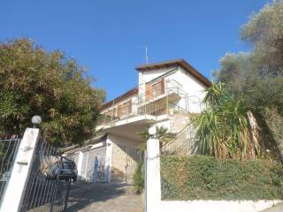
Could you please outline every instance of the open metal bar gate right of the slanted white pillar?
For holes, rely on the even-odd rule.
[[[67,158],[62,157],[57,152],[57,148],[52,147],[46,140],[39,141],[21,212],[66,211],[71,181],[63,181],[58,178],[48,180],[46,178],[50,168],[64,163],[65,160]]]

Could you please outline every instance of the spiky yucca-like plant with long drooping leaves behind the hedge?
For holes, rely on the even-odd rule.
[[[250,134],[249,109],[224,83],[213,82],[203,102],[206,110],[194,120],[198,153],[238,159],[250,159],[259,153],[259,144]]]

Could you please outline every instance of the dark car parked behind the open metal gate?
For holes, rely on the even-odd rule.
[[[73,181],[76,181],[77,177],[78,177],[78,170],[76,163],[66,158],[63,158],[63,160],[52,165],[46,176],[46,178],[49,180],[73,179]]]

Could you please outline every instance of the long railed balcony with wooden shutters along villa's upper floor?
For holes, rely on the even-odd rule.
[[[141,85],[140,85],[141,87]],[[101,114],[99,126],[114,125],[118,121],[125,123],[132,120],[157,119],[161,115],[168,114],[171,110],[184,110],[174,102],[185,95],[180,83],[175,80],[161,79],[152,84],[144,84],[144,92],[137,95],[136,100],[128,100],[123,103],[114,104],[109,110]],[[133,119],[133,117],[135,117]]]

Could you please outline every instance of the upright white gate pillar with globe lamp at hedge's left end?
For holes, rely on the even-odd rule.
[[[155,127],[155,126],[154,126]],[[151,136],[155,133],[150,132]],[[151,138],[147,141],[147,212],[160,211],[161,205],[161,179],[160,179],[160,157],[159,140]]]

